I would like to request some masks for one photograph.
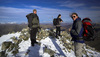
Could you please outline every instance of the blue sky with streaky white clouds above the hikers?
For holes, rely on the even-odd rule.
[[[0,0],[0,23],[27,23],[26,15],[37,9],[40,23],[52,23],[58,14],[64,23],[73,22],[70,14],[100,22],[100,0]]]

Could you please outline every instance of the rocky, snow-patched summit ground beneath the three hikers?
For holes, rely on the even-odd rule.
[[[42,29],[37,35],[37,41],[39,43],[35,44],[34,47],[31,46],[28,29],[23,29],[21,32],[14,34],[3,35],[0,37],[0,44],[2,44],[4,41],[16,43],[13,41],[13,39],[16,38],[18,40],[22,40],[18,44],[19,51],[15,55],[12,53],[12,51],[8,52],[9,48],[6,50],[5,53],[8,54],[8,57],[75,57],[72,45],[73,42],[70,41],[70,35],[67,32],[62,31],[62,37],[56,39],[52,33],[54,31],[55,30],[52,31],[49,29]],[[15,36],[15,38],[13,38],[13,36]],[[3,51],[1,47],[2,45],[0,45],[0,51]],[[95,49],[86,45],[84,46],[84,49],[86,53],[83,53],[84,57],[100,57],[100,53],[96,52]]]

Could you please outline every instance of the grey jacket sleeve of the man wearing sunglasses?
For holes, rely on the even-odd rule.
[[[81,28],[82,28],[82,22],[78,21],[75,24],[75,29],[71,30],[71,34],[74,35],[74,36],[78,36],[80,34]]]

